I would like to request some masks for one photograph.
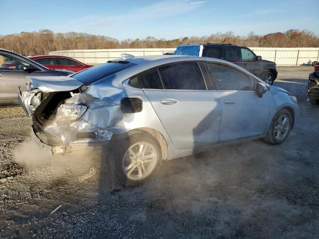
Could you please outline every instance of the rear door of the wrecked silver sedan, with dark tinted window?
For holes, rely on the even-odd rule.
[[[160,82],[160,89],[142,88],[178,149],[219,142],[221,105],[216,93],[207,91],[202,70],[197,62],[172,63],[144,78]]]

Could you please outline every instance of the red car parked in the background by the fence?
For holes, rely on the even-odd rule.
[[[67,56],[31,56],[29,59],[55,70],[78,72],[92,67]]]

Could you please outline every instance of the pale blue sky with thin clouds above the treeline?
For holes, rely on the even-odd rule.
[[[318,9],[319,0],[0,0],[0,35],[40,29],[119,40],[288,29],[319,34]]]

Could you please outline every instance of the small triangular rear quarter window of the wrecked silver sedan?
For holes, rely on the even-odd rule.
[[[163,89],[157,70],[147,71],[130,79],[129,84],[136,88]]]

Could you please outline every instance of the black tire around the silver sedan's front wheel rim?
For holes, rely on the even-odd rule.
[[[285,134],[285,136],[283,138],[279,138],[278,139],[276,137],[275,127],[277,125],[277,121],[281,117],[286,117],[289,120],[289,129],[288,129],[288,131],[286,132],[286,134]],[[267,132],[267,136],[264,138],[264,140],[266,142],[268,142],[268,143],[271,143],[271,144],[281,144],[281,143],[283,143],[287,139],[287,137],[289,136],[289,133],[290,133],[291,127],[292,127],[292,123],[293,123],[293,120],[292,120],[290,112],[285,110],[285,109],[280,110],[275,115],[274,119],[272,120],[272,122],[270,124],[270,127],[268,129],[268,132]]]

